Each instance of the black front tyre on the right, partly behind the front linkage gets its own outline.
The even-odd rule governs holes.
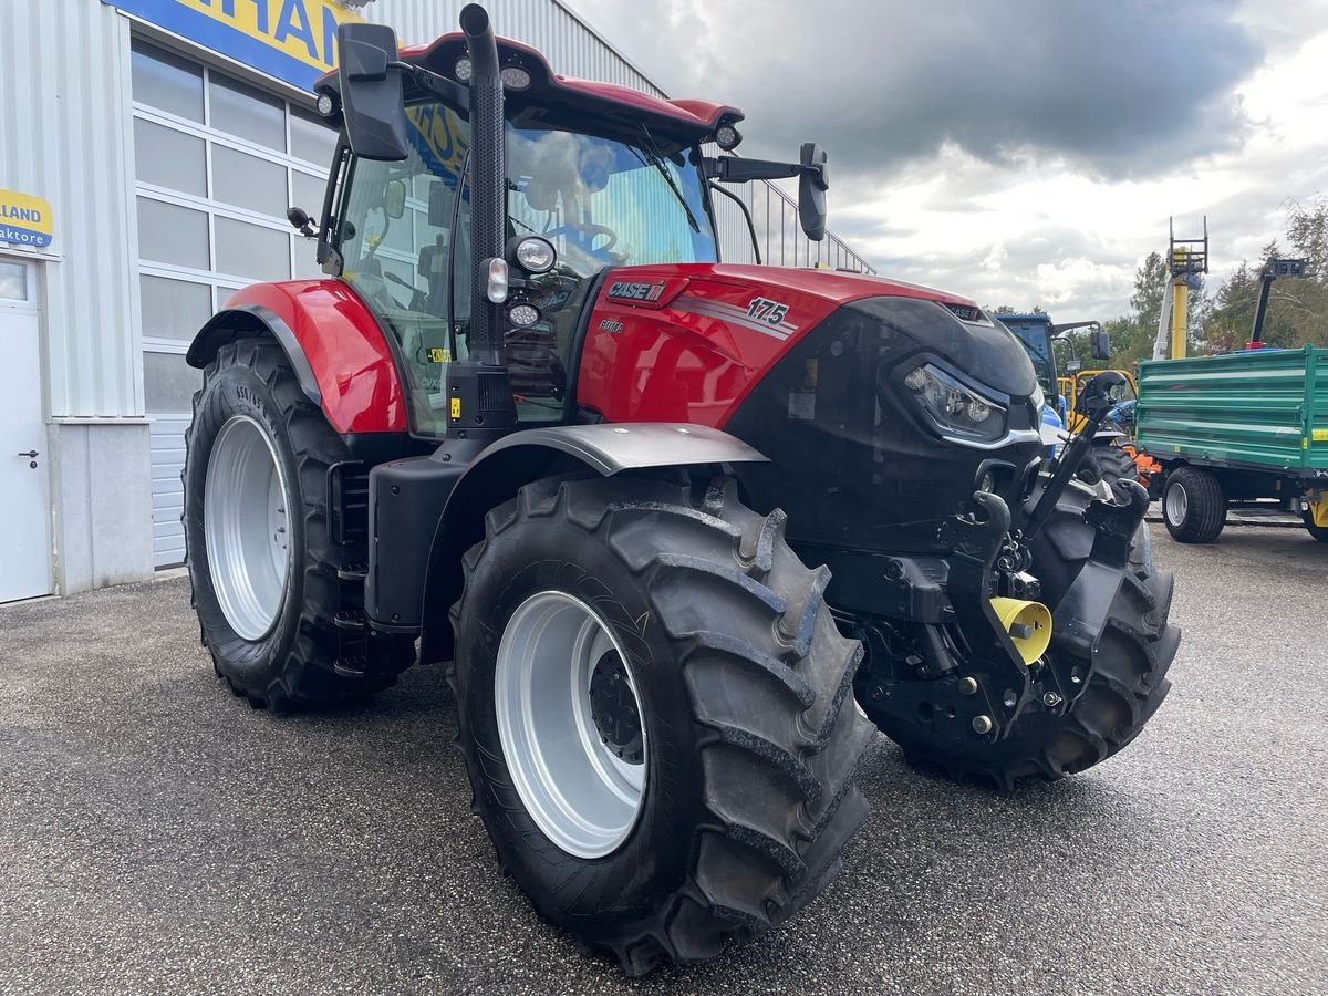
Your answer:
[[[1031,570],[1053,610],[1093,547],[1093,529],[1084,522],[1090,501],[1084,490],[1068,487],[1033,540]],[[916,724],[892,728],[887,725],[882,732],[919,768],[1005,791],[1024,781],[1054,781],[1101,764],[1143,730],[1171,688],[1166,673],[1181,643],[1179,628],[1167,622],[1173,586],[1169,571],[1153,567],[1147,525],[1141,523],[1093,652],[1084,653],[1053,632],[1048,653],[1061,655],[1070,673],[1088,679],[1068,709],[1033,703],[996,742],[940,738],[924,734]],[[870,701],[867,706],[870,714]]]

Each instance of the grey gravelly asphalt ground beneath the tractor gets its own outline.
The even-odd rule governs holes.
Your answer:
[[[880,738],[838,882],[640,981],[498,876],[438,669],[274,718],[182,580],[0,608],[0,992],[1328,992],[1328,548],[1154,551],[1186,635],[1129,750],[1001,797]]]

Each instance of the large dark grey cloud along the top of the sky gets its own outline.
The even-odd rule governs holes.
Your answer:
[[[1230,0],[576,5],[681,77],[661,80],[671,92],[744,108],[753,154],[814,138],[841,175],[890,175],[947,142],[1001,165],[1157,174],[1239,146],[1234,89],[1262,60]]]

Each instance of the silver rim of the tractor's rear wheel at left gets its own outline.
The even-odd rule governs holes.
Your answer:
[[[203,486],[203,542],[212,591],[235,635],[267,636],[290,575],[286,477],[259,422],[232,416],[216,434]]]

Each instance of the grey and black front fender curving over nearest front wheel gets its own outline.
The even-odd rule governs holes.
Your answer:
[[[470,444],[473,446],[473,444]],[[465,459],[465,440],[444,444],[429,459]],[[448,495],[429,550],[420,606],[420,660],[452,657],[448,612],[461,598],[461,558],[483,539],[485,517],[542,477],[590,471],[602,477],[663,467],[722,466],[766,457],[741,440],[700,425],[636,422],[632,425],[564,425],[505,436],[474,457]],[[374,501],[386,501],[374,487]],[[390,494],[390,490],[388,490]],[[374,514],[374,522],[392,522]],[[381,547],[374,543],[374,547]]]

